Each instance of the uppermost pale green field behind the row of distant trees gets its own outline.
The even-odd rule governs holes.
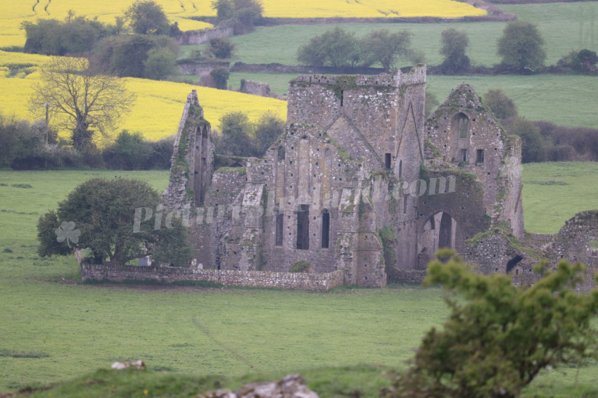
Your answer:
[[[425,4],[425,3],[424,3]],[[500,6],[515,13],[519,20],[536,23],[546,41],[547,64],[556,63],[571,50],[591,49],[598,51],[598,1],[529,4]],[[340,26],[357,37],[372,30],[388,28],[391,31],[412,32],[414,49],[426,53],[426,63],[437,65],[443,58],[440,49],[440,33],[449,27],[462,30],[469,36],[467,53],[476,65],[492,65],[500,62],[496,55],[496,41],[502,35],[506,23],[397,23],[397,24],[341,24],[341,25],[281,25],[258,27],[252,34],[236,36],[236,56],[245,63],[284,63],[297,65],[298,47],[310,38]],[[409,65],[405,60],[403,65]]]

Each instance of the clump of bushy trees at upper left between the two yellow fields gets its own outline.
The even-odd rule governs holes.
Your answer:
[[[69,11],[22,27],[26,53],[85,57],[98,74],[163,79],[176,70],[180,30],[153,0],[136,0],[114,25]]]

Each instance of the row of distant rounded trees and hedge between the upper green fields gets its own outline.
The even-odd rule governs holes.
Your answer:
[[[390,32],[384,28],[358,38],[352,32],[335,27],[300,46],[297,60],[306,65],[335,68],[381,65],[384,70],[390,71],[401,59],[412,63],[424,62],[425,54],[411,48],[411,37],[412,34],[407,30]],[[492,68],[474,67],[466,54],[469,37],[464,32],[449,28],[440,37],[443,62],[429,67],[428,71],[442,75],[539,71],[598,74],[598,55],[588,49],[571,51],[556,65],[545,67],[544,45],[545,40],[536,25],[516,20],[508,23],[502,36],[497,39],[497,55],[501,57],[501,62]]]

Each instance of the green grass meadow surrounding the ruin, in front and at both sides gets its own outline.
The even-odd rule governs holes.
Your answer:
[[[595,208],[596,172],[598,163],[526,165],[523,206],[528,230],[554,232],[578,210]],[[56,387],[54,396],[141,397],[141,387],[135,392],[110,387],[121,383],[120,375],[91,373],[113,361],[144,359],[150,371],[135,376],[131,385],[151,386],[150,396],[156,397],[167,396],[165,385],[172,385],[172,378],[191,394],[196,390],[189,385],[199,388],[220,380],[238,386],[297,371],[303,371],[322,397],[360,388],[365,389],[362,396],[376,396],[385,383],[381,371],[402,366],[424,331],[447,314],[437,288],[312,293],[82,285],[72,257],[37,256],[35,224],[93,176],[132,176],[161,191],[168,173],[0,172],[0,391],[79,377],[74,384]],[[556,397],[590,397],[597,370],[581,369],[578,387],[573,386],[575,369],[565,375],[551,372],[535,383],[529,396],[540,397],[534,394],[545,391]],[[248,373],[249,379],[241,377]],[[200,375],[215,377],[206,381]],[[85,383],[94,385],[95,395],[88,387],[80,395],[65,392]],[[575,389],[580,393],[574,394]]]

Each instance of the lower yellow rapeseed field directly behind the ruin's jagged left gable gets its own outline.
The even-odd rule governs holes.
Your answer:
[[[2,51],[0,51],[0,60],[1,56]],[[24,72],[16,77],[7,77],[7,75],[9,75],[8,68],[0,68],[1,113],[31,120],[33,116],[27,110],[27,101],[32,92],[32,84],[39,79],[39,72],[27,76],[24,76]],[[262,113],[270,110],[281,119],[286,119],[286,102],[274,98],[250,96],[184,83],[133,78],[127,78],[125,81],[128,89],[137,95],[137,100],[131,112],[121,121],[117,131],[120,129],[141,131],[147,139],[154,141],[177,132],[186,96],[192,89],[198,90],[205,118],[216,129],[220,117],[231,111],[241,110],[248,114],[250,120],[257,120]],[[61,135],[68,135],[68,131],[63,131]]]

